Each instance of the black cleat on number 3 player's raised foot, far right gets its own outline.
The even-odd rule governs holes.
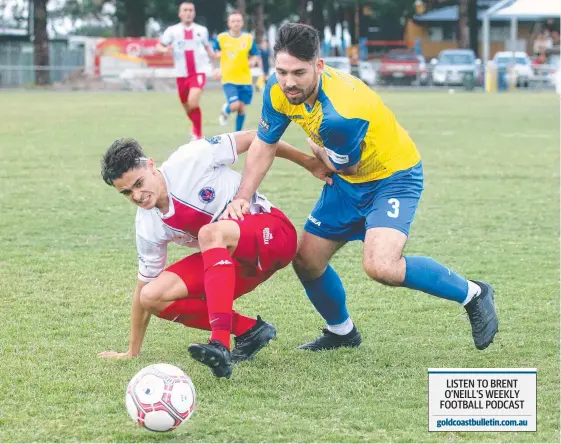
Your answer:
[[[490,284],[472,281],[481,287],[481,293],[464,307],[471,323],[473,342],[479,350],[484,350],[499,331],[499,319],[495,310],[495,290]]]

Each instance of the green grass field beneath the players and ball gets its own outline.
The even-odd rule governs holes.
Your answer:
[[[135,137],[158,164],[188,140],[174,94],[0,93],[0,441],[559,442],[559,97],[383,92],[423,155],[425,191],[408,254],[495,286],[500,332],[474,348],[460,306],[370,281],[360,243],[333,261],[364,343],[309,354],[321,319],[292,269],[236,307],[279,337],[216,380],[186,347],[206,332],[153,319],[141,357],[126,351],[136,282],[135,208],[103,183],[99,158]],[[222,132],[218,91],[205,132]],[[259,105],[249,110],[256,127]],[[285,139],[304,148],[304,133]],[[241,165],[240,165],[241,167]],[[322,184],[284,160],[261,191],[301,228]],[[188,251],[172,247],[170,260]],[[129,379],[166,362],[198,392],[177,433],[136,427]],[[429,367],[536,367],[537,433],[428,433]]]

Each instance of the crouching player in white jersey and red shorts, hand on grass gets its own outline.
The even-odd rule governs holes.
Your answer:
[[[296,253],[294,226],[257,192],[243,220],[217,220],[241,180],[228,166],[255,137],[255,131],[247,131],[194,141],[179,147],[159,169],[133,139],[120,139],[109,147],[102,159],[103,179],[139,207],[139,270],[129,349],[103,352],[101,357],[138,356],[150,315],[210,330],[208,344],[192,344],[188,351],[217,377],[229,377],[232,360],[253,358],[276,336],[268,322],[233,311],[233,301],[291,262]],[[315,157],[282,141],[277,156],[331,183],[329,171]],[[166,268],[170,242],[200,252]]]

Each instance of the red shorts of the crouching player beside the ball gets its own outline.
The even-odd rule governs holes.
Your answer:
[[[292,262],[298,235],[292,222],[277,208],[272,208],[270,213],[248,214],[244,220],[235,222],[240,226],[240,240],[232,255],[236,264],[234,298],[239,298]],[[205,295],[201,253],[187,256],[166,271],[175,273],[185,282],[188,297]]]

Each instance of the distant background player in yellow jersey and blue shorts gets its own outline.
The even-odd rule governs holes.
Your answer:
[[[236,112],[236,131],[245,121],[245,106],[253,98],[251,66],[259,64],[259,51],[251,34],[242,32],[243,15],[233,11],[228,15],[228,31],[218,35],[214,50],[220,51],[220,70],[226,103],[218,121],[225,126],[231,112]]]

